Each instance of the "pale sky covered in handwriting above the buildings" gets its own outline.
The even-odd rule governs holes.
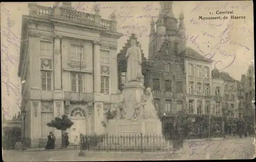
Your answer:
[[[99,2],[98,2],[99,3]],[[98,4],[97,3],[97,4]],[[2,107],[9,119],[18,113],[21,101],[20,79],[17,77],[19,43],[22,15],[28,15],[28,3],[1,3],[1,61],[2,61]],[[53,6],[52,2],[37,3]],[[81,12],[94,14],[94,2],[72,2],[72,7]],[[118,49],[135,33],[141,43],[145,57],[148,53],[150,21],[155,21],[160,12],[159,2],[100,2],[101,18],[117,16],[118,32],[124,36],[118,40]],[[233,14],[216,14],[216,11],[229,11]],[[212,68],[228,72],[240,80],[249,64],[254,63],[253,4],[251,1],[215,2],[174,2],[176,18],[183,12],[187,46],[195,49],[207,59],[215,60]],[[230,19],[230,16],[245,16],[245,19]],[[200,20],[199,17],[220,16],[216,20]],[[228,19],[223,19],[227,16]],[[190,39],[190,38],[196,38]],[[15,41],[13,41],[15,40]],[[16,42],[16,43],[15,43]],[[215,55],[214,55],[215,53]],[[230,66],[229,66],[230,65]],[[9,115],[8,115],[9,114]]]

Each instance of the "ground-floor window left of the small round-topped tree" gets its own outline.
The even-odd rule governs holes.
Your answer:
[[[50,131],[54,131],[53,127],[47,126],[47,123],[54,119],[53,113],[41,112],[41,138],[47,138]]]

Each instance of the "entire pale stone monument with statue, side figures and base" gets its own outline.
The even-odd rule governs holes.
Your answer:
[[[127,49],[126,81],[115,106],[117,116],[106,123],[106,132],[110,135],[162,135],[162,124],[157,116],[151,88],[144,93],[141,72],[141,49],[136,41]]]

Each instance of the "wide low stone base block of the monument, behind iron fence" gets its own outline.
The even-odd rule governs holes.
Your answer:
[[[158,119],[139,119],[132,121],[127,119],[113,119],[106,123],[106,132],[109,135],[138,135],[162,136],[162,123]]]

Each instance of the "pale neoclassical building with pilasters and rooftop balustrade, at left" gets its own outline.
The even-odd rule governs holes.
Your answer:
[[[57,6],[57,7],[56,7]],[[72,143],[79,133],[104,133],[104,111],[117,102],[117,33],[115,15],[102,19],[78,12],[71,3],[49,8],[29,4],[22,18],[18,76],[26,111],[28,147],[44,147],[50,131],[60,144],[61,132],[48,127],[68,115]]]

